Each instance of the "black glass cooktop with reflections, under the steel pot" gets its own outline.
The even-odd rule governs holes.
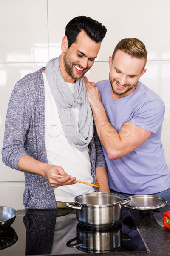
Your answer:
[[[116,226],[83,227],[75,214],[57,210],[17,214],[12,226],[0,233],[0,256],[80,255],[149,252],[129,211]]]

